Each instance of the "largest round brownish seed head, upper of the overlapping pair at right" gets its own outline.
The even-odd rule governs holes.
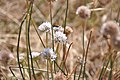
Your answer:
[[[119,32],[119,25],[115,21],[107,21],[101,27],[101,33],[104,36],[110,35],[110,37],[113,37],[118,35]]]

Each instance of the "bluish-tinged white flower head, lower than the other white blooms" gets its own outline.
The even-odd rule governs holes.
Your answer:
[[[51,61],[54,61],[57,58],[52,48],[45,48],[44,51],[41,52],[40,56],[47,59],[51,59]]]

